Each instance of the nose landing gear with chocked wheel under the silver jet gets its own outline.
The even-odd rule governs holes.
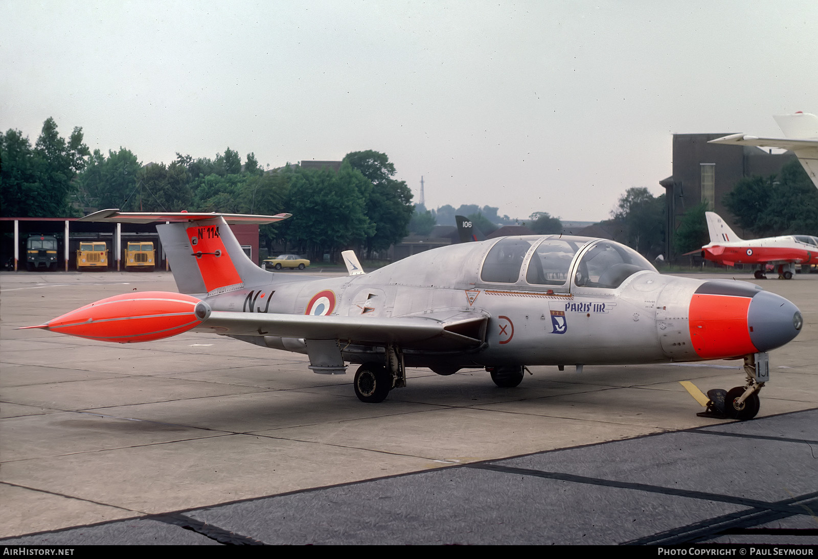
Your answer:
[[[747,374],[747,384],[744,387],[730,388],[729,391],[719,388],[708,390],[708,409],[696,415],[739,421],[756,417],[761,407],[758,392],[770,380],[770,364],[766,353],[744,356],[744,373]]]

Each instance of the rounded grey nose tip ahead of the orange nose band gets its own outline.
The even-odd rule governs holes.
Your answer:
[[[798,307],[784,297],[762,291],[756,293],[747,311],[750,339],[758,351],[770,351],[789,342],[801,331],[803,319]]]

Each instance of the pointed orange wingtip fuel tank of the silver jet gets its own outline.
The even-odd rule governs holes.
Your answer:
[[[209,305],[196,297],[146,291],[101,299],[46,324],[25,328],[43,328],[101,342],[150,342],[187,332],[209,314]]]

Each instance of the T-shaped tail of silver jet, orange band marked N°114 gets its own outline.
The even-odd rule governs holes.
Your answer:
[[[173,279],[181,293],[216,295],[244,288],[245,284],[269,281],[271,272],[256,266],[242,250],[228,223],[272,223],[290,217],[248,216],[243,214],[167,212],[131,213],[102,210],[78,221],[151,223],[156,226],[162,248],[173,269]]]

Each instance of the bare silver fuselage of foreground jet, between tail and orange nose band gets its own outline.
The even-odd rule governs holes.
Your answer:
[[[214,311],[401,317],[439,311],[490,316],[479,351],[448,363],[635,364],[699,359],[690,344],[690,297],[703,280],[640,271],[616,289],[487,284],[479,270],[488,244],[429,251],[366,275],[288,281],[206,300]],[[452,254],[456,253],[456,254]],[[267,346],[300,344],[267,340]],[[372,348],[372,351],[382,351]],[[429,352],[429,364],[439,353]],[[417,354],[414,364],[425,360]]]

